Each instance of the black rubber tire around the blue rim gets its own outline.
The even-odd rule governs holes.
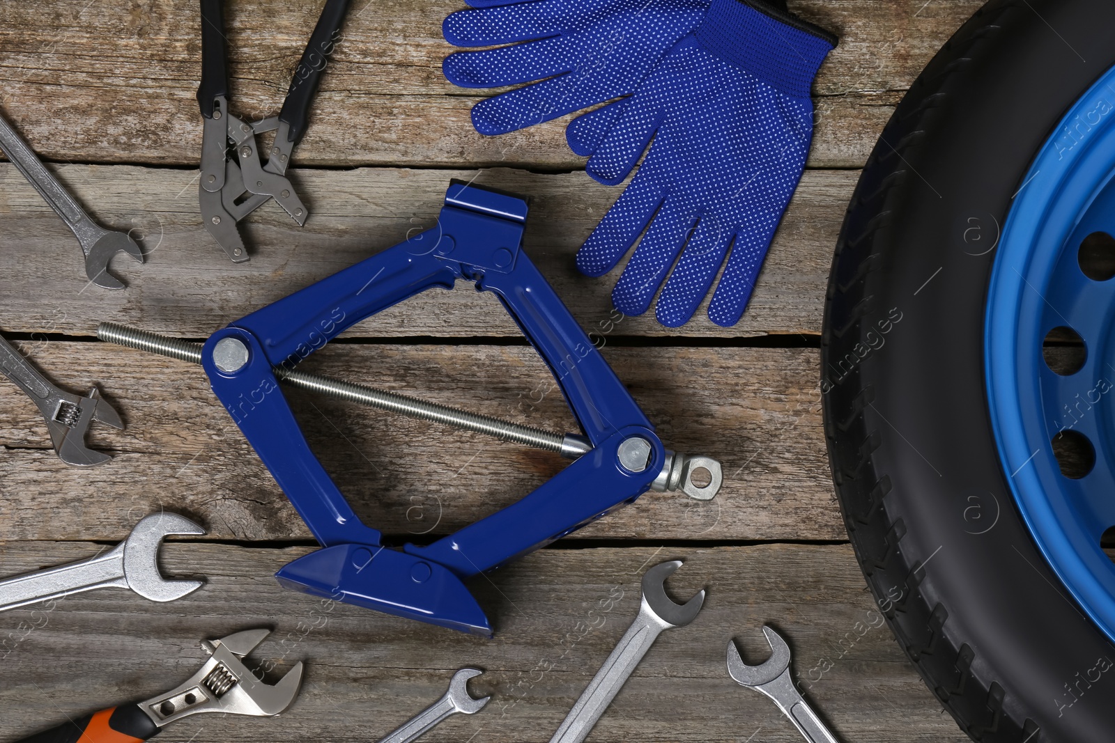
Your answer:
[[[985,6],[895,110],[833,261],[822,391],[844,521],[895,637],[976,741],[1115,740],[1115,647],[1022,525],[982,345],[987,248],[1041,144],[1115,63],[1112,29],[1111,0]]]

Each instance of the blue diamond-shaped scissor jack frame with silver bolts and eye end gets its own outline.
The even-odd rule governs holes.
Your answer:
[[[688,477],[522,252],[526,212],[522,198],[454,180],[434,228],[233,322],[202,348],[213,392],[322,545],[279,570],[284,586],[491,636],[464,578],[560,539],[652,486],[665,490],[671,480],[672,490]],[[456,534],[385,548],[310,451],[273,368],[289,369],[361,320],[427,289],[452,290],[458,278],[495,293],[518,323],[556,378],[586,440],[584,453]],[[719,488],[715,469],[710,492],[697,497]]]

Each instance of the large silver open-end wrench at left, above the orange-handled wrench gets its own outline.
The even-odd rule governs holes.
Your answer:
[[[172,534],[205,534],[176,514],[153,514],[112,550],[87,560],[0,580],[0,612],[95,588],[130,588],[153,602],[173,602],[201,588],[201,580],[167,580],[158,571],[158,547]]]

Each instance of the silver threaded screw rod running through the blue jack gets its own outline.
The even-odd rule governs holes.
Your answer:
[[[191,341],[183,341],[177,338],[159,335],[148,331],[128,327],[118,323],[104,322],[97,326],[97,338],[109,343],[126,345],[130,349],[157,353],[180,361],[187,361],[194,364],[202,363],[202,345]],[[319,374],[308,374],[297,369],[283,369],[272,366],[275,378],[287,382],[291,387],[318,394],[326,394],[350,402],[390,412],[401,413],[410,418],[434,421],[446,426],[454,426],[466,431],[475,431],[504,441],[553,451],[576,459],[584,452],[592,449],[592,446],[581,436],[572,433],[554,433],[531,426],[513,423],[492,416],[481,416],[466,410],[458,410],[449,405],[442,405],[435,402],[416,400],[415,398],[397,392],[377,390],[366,384],[357,384],[345,380],[330,379]]]

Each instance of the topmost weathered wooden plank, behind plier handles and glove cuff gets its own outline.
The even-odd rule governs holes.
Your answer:
[[[811,163],[859,167],[901,96],[980,0],[808,0],[792,3],[842,37],[816,82]],[[320,0],[231,2],[225,9],[232,100],[244,116],[278,113]],[[330,59],[300,165],[571,169],[568,117],[482,137],[468,120],[476,91],[440,74],[440,35],[463,3],[390,0],[355,8]],[[0,27],[0,104],[33,146],[58,162],[195,165],[201,69],[195,4],[153,1],[127,11],[84,3],[7,3]],[[60,133],[65,131],[65,136]]]

